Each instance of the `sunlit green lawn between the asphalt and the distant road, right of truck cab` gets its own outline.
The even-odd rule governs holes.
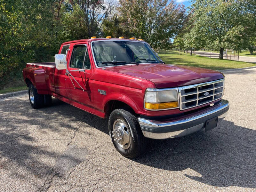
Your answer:
[[[192,55],[188,53],[179,54],[178,51],[161,51],[158,53],[159,57],[168,64],[177,64],[177,65],[188,65],[193,67],[202,67],[213,70],[221,69],[234,69],[234,68],[244,68],[255,66],[253,63],[246,63],[241,61],[232,61],[232,60],[221,60],[214,59],[209,57],[202,57],[199,55]]]

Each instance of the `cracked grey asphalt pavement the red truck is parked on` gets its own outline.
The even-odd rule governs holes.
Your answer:
[[[255,191],[256,68],[225,72],[228,116],[218,127],[150,140],[127,159],[108,119],[57,99],[31,108],[28,95],[0,101],[0,191]]]

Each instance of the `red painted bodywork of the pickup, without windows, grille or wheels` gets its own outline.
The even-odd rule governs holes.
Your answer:
[[[56,69],[55,63],[28,63],[27,68],[23,69],[24,80],[29,79],[40,94],[51,94],[53,97],[75,107],[105,118],[107,116],[106,106],[112,100],[122,101],[129,105],[135,113],[144,116],[165,116],[202,108],[210,103],[183,111],[180,111],[180,109],[148,111],[143,106],[145,90],[147,88],[198,84],[224,77],[222,73],[209,69],[169,64],[139,64],[138,66],[96,68],[90,46],[91,42],[95,40],[106,39],[66,42],[61,45],[59,51],[61,53],[63,45],[70,44],[67,65],[68,70],[74,70],[76,68],[69,67],[73,46],[87,44],[91,69],[86,69],[85,72],[70,72],[84,91],[72,78],[70,80],[65,74],[65,70]],[[76,89],[71,81],[75,84]],[[106,91],[106,95],[100,94],[98,90]]]

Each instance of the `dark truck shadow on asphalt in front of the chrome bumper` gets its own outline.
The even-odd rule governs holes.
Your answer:
[[[148,151],[134,161],[158,169],[192,169],[186,177],[217,187],[255,188],[256,131],[222,120],[218,127],[186,137],[150,140]]]

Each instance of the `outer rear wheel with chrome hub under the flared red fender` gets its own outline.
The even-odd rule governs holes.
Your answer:
[[[33,84],[28,87],[28,98],[32,108],[38,109],[44,106],[44,95],[38,94]]]

